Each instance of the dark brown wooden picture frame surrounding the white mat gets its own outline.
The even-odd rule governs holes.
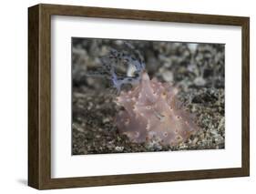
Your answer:
[[[51,16],[101,18],[241,26],[242,31],[242,148],[241,168],[51,178]],[[250,18],[198,15],[70,5],[28,8],[28,185],[59,189],[189,179],[243,177],[250,174]]]

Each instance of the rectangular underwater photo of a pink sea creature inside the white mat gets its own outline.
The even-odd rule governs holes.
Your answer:
[[[225,148],[225,45],[72,37],[72,155]]]

